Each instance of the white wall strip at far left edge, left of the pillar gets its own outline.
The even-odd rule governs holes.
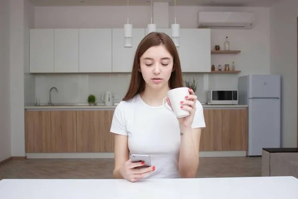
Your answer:
[[[0,161],[11,156],[9,0],[0,0]]]

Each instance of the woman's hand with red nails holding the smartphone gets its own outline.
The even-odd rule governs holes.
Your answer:
[[[130,182],[137,182],[139,179],[149,176],[155,170],[154,166],[138,168],[144,164],[144,162],[132,162],[131,159],[129,159],[120,169],[120,174],[124,179]]]

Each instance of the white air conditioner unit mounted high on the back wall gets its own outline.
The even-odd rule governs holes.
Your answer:
[[[198,12],[198,28],[251,29],[254,24],[253,12]]]

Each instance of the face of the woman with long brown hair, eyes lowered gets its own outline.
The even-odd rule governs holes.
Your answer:
[[[173,57],[163,45],[152,46],[140,58],[140,68],[147,86],[153,89],[168,87]]]

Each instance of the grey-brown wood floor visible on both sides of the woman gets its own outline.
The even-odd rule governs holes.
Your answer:
[[[0,165],[1,179],[109,179],[113,159],[27,159]],[[198,178],[258,177],[261,157],[200,158]]]

